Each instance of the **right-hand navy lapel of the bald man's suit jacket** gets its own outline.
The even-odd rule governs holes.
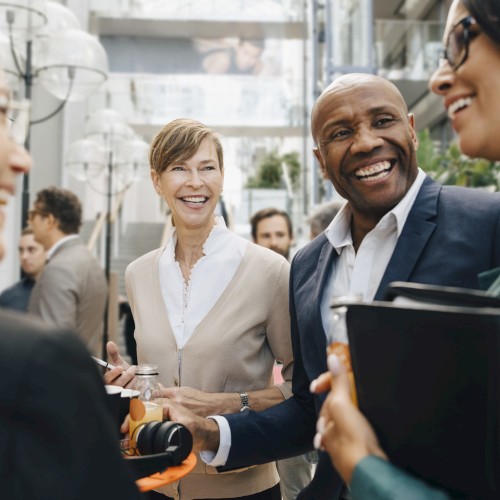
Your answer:
[[[420,254],[436,227],[441,185],[426,177],[413,204],[396,248],[382,277],[375,300],[382,300],[392,281],[408,281]]]

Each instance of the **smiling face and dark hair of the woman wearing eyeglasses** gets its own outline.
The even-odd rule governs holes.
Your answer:
[[[500,1],[455,0],[430,87],[444,97],[460,150],[500,160]]]

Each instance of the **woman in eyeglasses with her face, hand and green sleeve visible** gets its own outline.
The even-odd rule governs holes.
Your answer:
[[[443,59],[430,87],[444,97],[461,151],[498,161],[500,0],[454,0],[443,43]],[[350,485],[352,499],[451,498],[388,461],[372,426],[353,405],[347,373],[335,355],[329,356],[328,366],[330,372],[311,384],[315,393],[330,390],[318,420],[315,445],[328,451]]]

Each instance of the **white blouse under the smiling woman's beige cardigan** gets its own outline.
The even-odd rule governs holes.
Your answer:
[[[203,245],[203,257],[191,270],[189,283],[175,260],[177,234],[172,229],[159,261],[160,287],[177,347],[182,349],[194,329],[215,305],[232,280],[248,240],[227,229],[224,219],[215,225]]]

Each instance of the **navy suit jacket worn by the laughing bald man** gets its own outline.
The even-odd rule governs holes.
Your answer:
[[[324,233],[295,256],[290,275],[293,397],[263,412],[227,415],[232,445],[221,470],[303,453],[312,448],[324,397],[309,385],[327,370],[321,321],[323,290],[337,253]],[[443,187],[427,177],[408,215],[376,299],[391,281],[477,288],[479,272],[500,265],[500,194]],[[320,453],[300,498],[338,498],[342,482]]]

